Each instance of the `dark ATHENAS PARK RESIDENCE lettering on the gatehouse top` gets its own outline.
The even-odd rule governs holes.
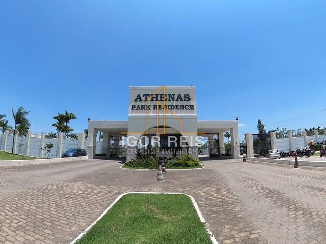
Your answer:
[[[175,94],[175,93],[142,93],[137,94],[134,98],[134,102],[148,102],[145,104],[132,104],[131,110],[161,110],[161,109],[169,109],[169,110],[194,110],[194,105],[186,104],[185,102],[190,102],[192,100],[190,94]],[[157,104],[149,104],[149,102],[159,102]],[[173,104],[166,104],[173,103]],[[176,104],[180,102],[180,104]]]

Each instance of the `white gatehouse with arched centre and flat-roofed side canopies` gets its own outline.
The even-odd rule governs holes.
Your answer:
[[[238,121],[197,120],[195,86],[129,88],[127,121],[89,121],[89,158],[95,158],[95,135],[98,131],[103,133],[102,152],[110,156],[117,155],[123,149],[127,161],[136,158],[138,154],[153,152],[153,149],[155,156],[161,158],[178,157],[185,153],[197,156],[196,142],[200,140],[197,136],[208,140],[210,157],[220,157],[225,153],[223,134],[226,131],[231,132],[231,158],[239,157]],[[176,143],[170,141],[171,136],[176,138]],[[168,150],[171,148],[175,150]]]

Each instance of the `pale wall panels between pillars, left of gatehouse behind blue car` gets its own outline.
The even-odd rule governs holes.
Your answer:
[[[0,135],[0,150],[8,151],[11,153],[12,139],[13,139],[13,135],[8,135],[7,146],[4,150],[5,135]],[[24,144],[22,147],[22,154],[25,155],[25,149],[26,149],[26,145],[27,145],[27,137],[22,137],[22,136],[17,137],[17,143],[16,143],[16,153],[17,154],[19,154],[18,145],[20,143]],[[53,144],[53,148],[51,150],[49,158],[57,158],[58,140],[44,138],[44,146],[45,146],[45,144],[48,144],[48,143]],[[102,151],[103,151],[102,143],[103,143],[103,141],[96,141],[96,154],[102,153]],[[62,140],[61,153],[64,153],[66,150],[68,150],[70,148],[77,148],[77,146],[78,146],[77,140]],[[41,138],[31,137],[28,156],[39,157],[40,149],[41,149],[40,147],[41,147]],[[87,147],[87,140],[84,141],[83,149],[86,150],[86,147]],[[44,157],[46,157],[45,154],[44,154]]]

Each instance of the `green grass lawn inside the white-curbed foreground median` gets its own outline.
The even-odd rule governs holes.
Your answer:
[[[78,244],[212,243],[191,199],[182,194],[127,194]]]

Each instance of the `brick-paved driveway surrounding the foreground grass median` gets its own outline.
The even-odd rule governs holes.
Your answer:
[[[83,160],[0,167],[0,243],[69,243],[127,191],[195,197],[219,243],[326,243],[326,169],[205,161],[204,169],[120,169]]]

